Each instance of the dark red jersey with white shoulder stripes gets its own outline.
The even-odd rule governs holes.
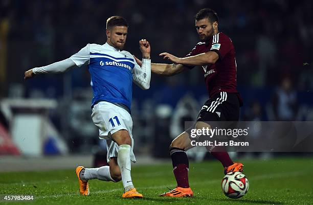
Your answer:
[[[219,32],[207,42],[198,42],[186,57],[209,51],[216,52],[219,56],[219,59],[214,64],[202,66],[209,96],[213,97],[219,92],[238,93],[236,81],[237,65],[232,40],[227,35]],[[190,69],[192,68],[190,67]],[[239,95],[238,98],[240,104],[242,104]]]

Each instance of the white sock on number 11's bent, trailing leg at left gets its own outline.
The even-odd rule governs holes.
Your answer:
[[[109,166],[103,166],[99,168],[84,168],[81,170],[79,177],[83,181],[95,178],[102,181],[114,181],[111,177]]]

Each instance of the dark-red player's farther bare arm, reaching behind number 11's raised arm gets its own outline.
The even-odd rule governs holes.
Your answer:
[[[134,57],[136,62],[141,66],[141,60],[139,60],[136,56]],[[158,75],[173,76],[186,70],[188,70],[188,67],[182,64],[151,63],[151,72]]]

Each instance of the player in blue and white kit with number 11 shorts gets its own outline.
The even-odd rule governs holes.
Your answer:
[[[149,89],[151,78],[150,44],[139,41],[142,52],[140,67],[133,56],[122,51],[127,36],[127,21],[121,16],[109,17],[106,21],[107,41],[103,45],[87,44],[68,59],[53,64],[35,67],[25,72],[25,79],[43,73],[62,73],[71,67],[88,64],[93,88],[92,119],[99,128],[99,137],[107,141],[109,166],[100,168],[76,168],[81,195],[89,195],[88,180],[123,181],[123,198],[142,198],[132,184],[130,161],[136,162],[133,154],[132,120],[130,103],[132,82],[142,89]]]

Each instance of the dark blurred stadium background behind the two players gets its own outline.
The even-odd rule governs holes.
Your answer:
[[[313,121],[312,1],[2,0],[2,171],[30,165],[92,166],[96,153],[103,156],[104,142],[90,117],[87,67],[28,81],[23,79],[25,71],[68,58],[87,43],[103,44],[105,22],[112,15],[124,16],[130,24],[125,48],[130,53],[140,57],[138,41],[146,38],[152,62],[165,62],[158,56],[161,52],[184,56],[198,42],[194,15],[205,7],[218,13],[219,30],[235,45],[238,89],[244,100],[240,119]],[[169,78],[152,75],[147,91],[133,86],[139,163],[168,158],[172,138],[184,130],[184,121],[195,120],[207,98],[200,69]]]

